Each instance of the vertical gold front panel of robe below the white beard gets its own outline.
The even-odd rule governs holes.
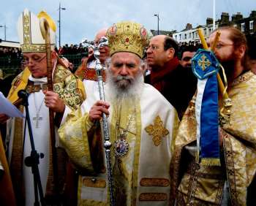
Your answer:
[[[118,159],[113,155],[113,175],[116,204],[132,205],[133,194],[136,194],[138,181],[138,159],[140,151],[140,101],[139,99],[129,99],[127,102],[116,103],[110,123],[110,137],[112,142],[118,140],[120,132],[125,132],[125,139],[129,144],[126,156]],[[118,105],[117,105],[118,104]],[[118,126],[119,124],[119,126]],[[131,166],[131,163],[132,166]],[[127,194],[130,197],[127,197]]]

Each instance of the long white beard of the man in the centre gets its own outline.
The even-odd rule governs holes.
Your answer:
[[[106,81],[106,99],[110,102],[123,102],[127,100],[134,101],[140,98],[140,94],[143,91],[143,74],[139,72],[137,76],[132,80],[128,77],[128,80],[116,81],[117,78],[123,78],[121,75],[115,78],[113,77],[110,69],[106,69],[107,81]],[[126,78],[126,77],[124,77]]]

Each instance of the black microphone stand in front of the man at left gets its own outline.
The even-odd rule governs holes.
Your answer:
[[[41,183],[39,169],[38,169],[39,158],[42,159],[44,157],[44,154],[37,153],[37,150],[34,148],[34,138],[32,134],[31,121],[29,117],[29,102],[28,102],[29,94],[26,93],[26,91],[19,91],[18,96],[23,99],[23,105],[26,110],[26,123],[28,124],[29,138],[31,142],[31,153],[30,153],[30,156],[27,156],[25,158],[25,164],[27,167],[31,167],[32,173],[34,176],[34,206],[39,206],[38,191],[39,191],[41,205],[45,206],[46,204],[45,204],[44,194],[42,191],[42,183]]]

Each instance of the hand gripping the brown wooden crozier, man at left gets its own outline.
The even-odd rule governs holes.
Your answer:
[[[44,94],[46,107],[49,107],[54,112],[64,112],[65,104],[64,101],[59,98],[59,94],[56,94],[53,91],[44,91]]]

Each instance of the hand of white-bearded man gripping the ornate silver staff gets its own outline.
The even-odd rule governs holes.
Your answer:
[[[108,108],[110,104],[108,102],[104,102],[102,100],[97,101],[89,111],[89,119],[91,122],[99,121],[102,118],[102,113],[104,112],[106,115],[109,115]]]

